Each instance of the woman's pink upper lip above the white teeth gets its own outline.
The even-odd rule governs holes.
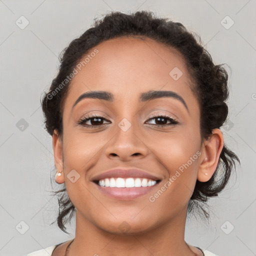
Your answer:
[[[93,181],[98,181],[100,179],[104,178],[111,178],[111,177],[121,177],[121,178],[128,178],[128,177],[141,177],[141,178],[147,178],[152,180],[160,180],[159,177],[152,175],[146,171],[135,169],[135,168],[129,168],[129,169],[122,169],[122,168],[116,168],[116,169],[110,169],[103,173],[100,173],[94,177],[92,177]]]

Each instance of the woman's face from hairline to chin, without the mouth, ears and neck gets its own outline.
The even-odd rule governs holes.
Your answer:
[[[201,160],[199,105],[174,49],[132,37],[95,48],[63,104],[63,136],[54,152],[63,164],[58,181],[65,182],[79,221],[116,233],[126,221],[131,233],[148,231],[186,213]],[[157,90],[170,92],[140,99]],[[106,91],[112,98],[77,100],[88,91]],[[137,168],[160,181],[137,197],[116,198],[93,181],[114,168]]]

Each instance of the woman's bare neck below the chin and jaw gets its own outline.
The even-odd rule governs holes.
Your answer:
[[[133,233],[110,233],[85,219],[76,211],[75,238],[68,255],[187,255],[196,253],[184,241],[186,207],[175,218],[156,227]]]

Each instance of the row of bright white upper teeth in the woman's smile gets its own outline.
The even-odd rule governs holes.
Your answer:
[[[145,187],[152,186],[156,183],[156,180],[147,178],[104,178],[98,181],[98,185],[106,187]]]

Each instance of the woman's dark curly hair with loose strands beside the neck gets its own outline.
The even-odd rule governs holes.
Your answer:
[[[67,76],[91,48],[102,41],[121,36],[151,38],[181,53],[200,106],[201,139],[208,139],[214,128],[220,128],[228,114],[225,103],[228,97],[228,75],[222,64],[215,65],[212,62],[210,54],[202,46],[200,36],[188,31],[179,22],[156,17],[151,11],[136,11],[130,14],[112,11],[101,19],[95,19],[93,26],[78,38],[73,39],[60,54],[57,76],[52,80],[49,90],[43,92],[41,99],[45,128],[50,135],[53,134],[54,129],[60,136],[62,135],[62,106],[70,83]],[[240,163],[237,155],[224,144],[212,177],[207,182],[196,181],[188,203],[188,213],[191,209],[200,208],[205,217],[208,217],[203,204],[209,197],[217,196],[225,187],[235,167],[235,160]],[[54,195],[56,194],[59,195],[57,224],[62,231],[66,232],[67,215],[69,214],[70,220],[76,209],[66,193],[64,183],[62,189],[54,192]]]

